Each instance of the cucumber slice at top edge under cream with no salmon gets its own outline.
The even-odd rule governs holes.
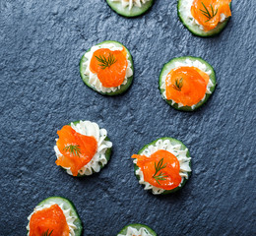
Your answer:
[[[131,10],[129,10],[129,7],[124,8],[121,2],[112,2],[111,0],[106,0],[106,2],[108,3],[109,7],[117,14],[123,17],[132,18],[146,13],[152,7],[155,0],[142,3],[142,7],[133,6]]]

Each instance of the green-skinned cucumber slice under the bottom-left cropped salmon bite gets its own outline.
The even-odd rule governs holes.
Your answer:
[[[70,214],[73,217],[76,217],[76,220],[74,221],[74,224],[77,226],[77,228],[74,230],[76,236],[82,235],[83,232],[83,223],[78,215],[77,209],[74,206],[74,204],[62,197],[50,197],[42,202],[40,202],[37,206],[44,206],[44,205],[50,205],[51,203],[55,203],[58,206],[63,204],[64,209],[70,209]]]

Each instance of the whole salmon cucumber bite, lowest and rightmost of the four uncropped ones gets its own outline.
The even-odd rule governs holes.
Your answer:
[[[161,138],[146,145],[134,158],[139,183],[154,195],[169,194],[181,189],[191,174],[188,148],[172,138]]]

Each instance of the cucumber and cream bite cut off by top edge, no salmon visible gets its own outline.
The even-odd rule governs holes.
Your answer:
[[[138,17],[146,13],[154,0],[106,0],[112,10],[123,17]]]

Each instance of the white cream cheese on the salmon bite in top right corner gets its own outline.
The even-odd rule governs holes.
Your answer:
[[[198,26],[199,29],[204,30],[204,27],[198,23],[198,21],[192,16],[191,14],[191,7],[194,0],[182,0],[181,5],[179,8],[179,14],[182,14],[184,17],[185,22],[190,26]],[[221,20],[220,23],[224,22],[226,19],[225,15],[221,14]]]

